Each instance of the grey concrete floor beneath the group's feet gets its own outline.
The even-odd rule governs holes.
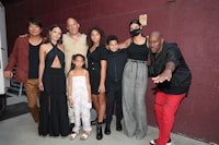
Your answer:
[[[8,105],[26,101],[25,96],[8,98]],[[115,120],[115,119],[114,119]],[[127,137],[123,132],[115,130],[115,121],[112,123],[112,134],[104,135],[103,140],[95,140],[95,126],[87,141],[74,141],[68,137],[42,137],[37,134],[37,124],[30,113],[0,121],[0,145],[149,145],[149,141],[157,137],[158,129],[149,126],[148,135],[143,140]],[[172,134],[172,145],[208,145],[193,138]]]

